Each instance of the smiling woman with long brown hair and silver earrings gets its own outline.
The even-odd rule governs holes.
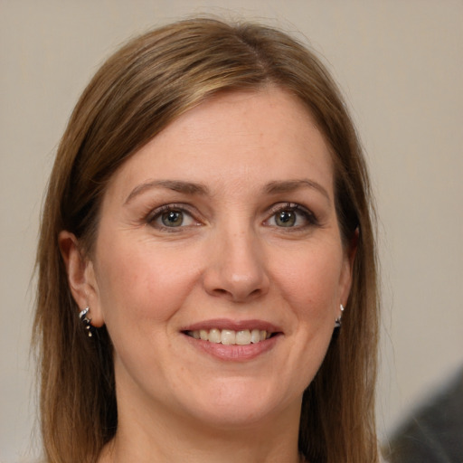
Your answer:
[[[203,19],[128,43],[74,109],[44,205],[48,461],[377,461],[370,212],[302,45]]]

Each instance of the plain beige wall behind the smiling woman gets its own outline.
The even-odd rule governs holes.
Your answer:
[[[381,219],[382,437],[463,364],[462,1],[0,0],[1,462],[34,454],[33,254],[66,120],[119,43],[200,13],[300,31],[352,107]]]

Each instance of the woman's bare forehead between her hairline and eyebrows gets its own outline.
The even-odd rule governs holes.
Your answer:
[[[260,183],[316,177],[333,190],[329,146],[307,108],[277,88],[222,94],[175,119],[131,156],[109,182],[128,194],[150,179]]]

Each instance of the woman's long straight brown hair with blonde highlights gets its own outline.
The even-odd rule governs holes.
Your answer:
[[[372,201],[354,126],[313,52],[266,26],[212,19],[167,25],[116,52],[84,90],[61,139],[43,208],[33,335],[48,461],[93,462],[118,427],[110,338],[102,327],[89,339],[80,326],[59,232],[73,232],[90,255],[106,184],[129,156],[218,92],[269,84],[294,94],[316,118],[331,146],[343,239],[358,235],[342,331],[304,393],[299,451],[311,463],[377,461]]]

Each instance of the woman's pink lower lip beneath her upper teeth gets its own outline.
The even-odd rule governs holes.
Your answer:
[[[269,352],[277,344],[280,335],[274,335],[265,341],[250,345],[222,345],[220,343],[216,344],[203,341],[202,339],[195,339],[189,335],[184,336],[191,345],[194,345],[195,348],[200,349],[205,354],[212,355],[220,360],[243,362],[255,359],[261,354]]]

